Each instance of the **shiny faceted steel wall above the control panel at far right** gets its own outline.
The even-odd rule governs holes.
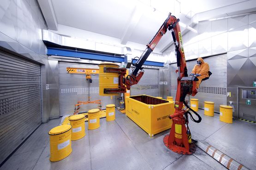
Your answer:
[[[256,14],[228,20],[227,86],[230,95],[227,104],[232,102],[235,109],[233,115],[239,115],[239,118],[243,117],[238,114],[238,87],[252,87],[253,81],[256,81],[255,32]]]

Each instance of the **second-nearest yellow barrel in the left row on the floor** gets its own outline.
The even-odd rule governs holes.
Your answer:
[[[85,136],[85,115],[84,114],[77,114],[73,115],[69,118],[70,125],[72,126],[71,129],[71,140],[75,141],[78,139],[83,138]]]

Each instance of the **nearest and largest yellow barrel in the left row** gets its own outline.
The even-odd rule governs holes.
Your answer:
[[[51,129],[50,161],[59,161],[66,158],[71,152],[71,125],[60,125]]]

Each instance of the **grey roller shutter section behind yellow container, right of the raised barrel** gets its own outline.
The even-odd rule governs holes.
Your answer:
[[[137,85],[131,86],[131,96],[159,96],[159,69],[144,68],[144,74]]]

